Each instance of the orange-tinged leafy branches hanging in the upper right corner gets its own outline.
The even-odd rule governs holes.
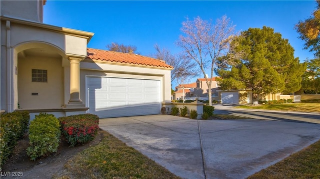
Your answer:
[[[299,38],[305,41],[304,49],[314,52],[314,56],[320,58],[320,0],[316,0],[317,6],[312,15],[304,21],[299,20],[295,25]]]

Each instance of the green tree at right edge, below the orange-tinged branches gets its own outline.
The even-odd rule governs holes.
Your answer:
[[[320,92],[320,59],[306,61],[307,70],[302,75],[302,90],[308,94]]]

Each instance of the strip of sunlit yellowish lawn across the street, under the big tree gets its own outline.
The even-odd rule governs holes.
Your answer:
[[[320,103],[287,103],[287,104],[264,104],[264,105],[241,105],[236,108],[244,109],[264,109],[278,111],[300,111],[300,112],[320,112]]]

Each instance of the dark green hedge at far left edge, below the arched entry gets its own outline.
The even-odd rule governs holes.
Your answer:
[[[28,128],[29,112],[12,112],[0,117],[0,165],[11,156],[16,142]]]

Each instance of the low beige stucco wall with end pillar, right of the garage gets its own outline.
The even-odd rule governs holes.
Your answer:
[[[199,102],[199,101],[194,101],[192,103],[162,103],[162,107],[168,107],[169,110],[167,112],[167,114],[171,113],[171,108],[173,105],[176,105],[176,107],[178,108],[183,108],[183,106],[186,106],[187,108],[187,114],[186,116],[190,116],[190,111],[192,110],[196,110],[196,112],[198,113],[198,116],[196,119],[201,119],[201,115],[203,113],[203,105],[205,103]],[[180,113],[179,113],[180,114]]]

